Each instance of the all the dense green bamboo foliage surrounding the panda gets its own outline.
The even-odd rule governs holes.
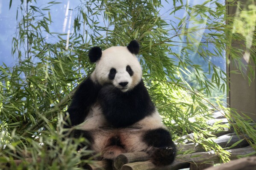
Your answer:
[[[31,2],[36,0],[27,1]],[[207,123],[212,113],[220,109],[236,122],[230,124],[237,133],[242,129],[250,136],[251,143],[256,142],[251,121],[223,106],[228,78],[226,71],[212,62],[229,56],[244,76],[255,78],[253,65],[245,66],[239,57],[245,51],[250,52],[256,63],[256,49],[250,48],[256,46],[256,32],[252,29],[255,20],[250,17],[255,16],[255,6],[242,10],[240,15],[227,16],[227,6],[216,0],[200,5],[182,0],[172,3],[165,14],[177,18],[178,23],[160,15],[159,9],[163,8],[160,0],[81,1],[74,9],[74,34],[58,34],[50,30],[54,24],[50,7],[58,5],[57,2],[26,6],[21,0],[22,19],[12,41],[12,54],[18,62],[10,68],[0,66],[0,160],[24,160],[21,155],[25,150],[32,153],[32,163],[23,161],[19,167],[11,164],[10,169],[77,167],[89,151],[76,152],[76,146],[84,138],[62,141],[65,135],[61,115],[76,86],[94,68],[88,62],[88,49],[126,46],[133,39],[141,44],[143,80],[178,144],[184,142],[181,136],[194,133],[194,142],[206,150],[215,150],[222,161],[228,161],[229,155],[223,148],[206,140],[225,127],[220,122]],[[180,10],[186,13],[184,17],[175,16]],[[243,28],[239,26],[248,29],[241,32]],[[240,40],[246,40],[246,45],[231,46]],[[244,72],[246,68],[249,75]],[[53,141],[57,141],[56,145]],[[38,157],[44,161],[36,163]],[[67,166],[62,167],[63,162]]]

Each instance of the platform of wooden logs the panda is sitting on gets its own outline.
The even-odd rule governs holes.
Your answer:
[[[231,159],[237,159],[237,156],[244,156],[247,154],[256,155],[253,147],[247,146],[243,148],[228,150],[231,154]],[[254,157],[256,160],[256,157]],[[149,161],[147,153],[124,153],[118,156],[114,161],[96,161],[94,164],[89,164],[90,170],[179,170],[189,168],[190,170],[203,170],[207,167],[212,167],[213,164],[219,163],[219,157],[215,152],[197,152],[187,155],[177,155],[173,164],[166,167],[156,167]],[[256,163],[256,161],[254,162]],[[256,165],[255,165],[256,166]],[[217,169],[210,169],[217,170]],[[228,169],[226,169],[228,170]],[[234,170],[234,169],[230,169]],[[244,170],[244,169],[243,169]]]

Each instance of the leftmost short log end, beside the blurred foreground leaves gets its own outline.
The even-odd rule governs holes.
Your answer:
[[[90,164],[87,164],[85,167],[88,170],[112,170],[112,161],[94,161]]]

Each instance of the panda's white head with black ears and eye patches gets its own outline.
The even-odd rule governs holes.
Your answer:
[[[126,92],[133,89],[142,77],[142,70],[137,57],[139,44],[132,40],[128,46],[112,46],[104,51],[93,47],[89,59],[96,62],[95,76],[99,84],[112,84]]]

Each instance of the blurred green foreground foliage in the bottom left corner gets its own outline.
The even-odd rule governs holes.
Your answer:
[[[59,115],[56,127],[44,124],[44,130],[39,130],[38,133],[30,131],[29,137],[17,135],[18,129],[13,130],[12,134],[1,133],[0,144],[5,144],[6,148],[2,148],[0,152],[0,168],[70,170],[79,168],[86,163],[92,163],[92,161],[84,159],[85,156],[90,157],[89,155],[92,153],[90,150],[86,150],[85,147],[77,152],[75,149],[82,143],[88,144],[88,141],[85,138],[67,138],[68,133],[65,133],[62,127],[63,118],[62,115]],[[2,127],[2,130],[5,128],[9,127]],[[65,140],[63,140],[64,138]],[[14,160],[17,159],[20,160],[18,165],[14,163]]]

